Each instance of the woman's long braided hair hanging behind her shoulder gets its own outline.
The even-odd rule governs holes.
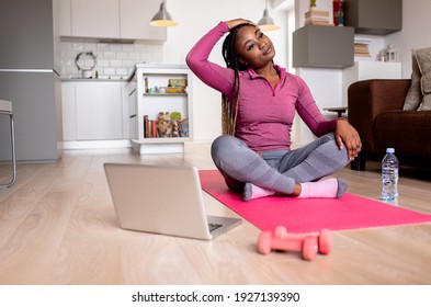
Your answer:
[[[224,134],[235,135],[238,115],[239,101],[239,71],[248,69],[248,66],[238,60],[239,55],[235,50],[238,30],[243,26],[253,26],[249,23],[241,23],[230,29],[229,34],[223,42],[223,58],[226,67],[234,70],[234,100],[229,101],[226,95],[222,95],[222,129]]]

